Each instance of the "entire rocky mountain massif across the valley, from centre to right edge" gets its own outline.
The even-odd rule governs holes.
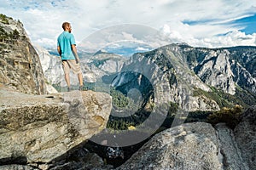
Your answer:
[[[148,90],[151,97],[160,103],[176,103],[185,111],[248,106],[256,102],[255,65],[249,64],[255,63],[255,59],[255,47],[193,48],[171,44],[134,54],[112,85],[122,92],[131,86],[147,91],[148,84],[139,83],[143,75],[154,87],[153,91]],[[138,76],[134,77],[131,71]]]

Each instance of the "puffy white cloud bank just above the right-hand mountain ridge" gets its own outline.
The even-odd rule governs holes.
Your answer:
[[[219,48],[256,45],[256,33],[246,35],[244,32],[229,26],[178,26],[178,29],[171,29],[165,25],[161,31],[172,42],[187,42],[189,45],[197,47]],[[219,35],[224,32],[229,33]]]

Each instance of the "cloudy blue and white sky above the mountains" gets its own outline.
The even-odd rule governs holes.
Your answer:
[[[0,4],[0,13],[20,20],[32,42],[44,48],[56,47],[64,21],[72,24],[78,49],[87,40],[87,49],[97,44],[102,48],[103,43],[105,48],[118,47],[115,42],[121,40],[150,42],[154,48],[171,42],[207,48],[256,46],[255,0],[0,0]],[[147,33],[140,36],[144,28]],[[150,36],[152,32],[164,38]]]

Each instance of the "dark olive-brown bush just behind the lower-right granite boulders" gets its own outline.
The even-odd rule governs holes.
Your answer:
[[[241,112],[241,105],[235,105],[232,108],[224,107],[220,111],[213,112],[209,115],[207,117],[207,122],[210,122],[213,126],[218,122],[225,122],[227,126],[234,129],[240,122]]]

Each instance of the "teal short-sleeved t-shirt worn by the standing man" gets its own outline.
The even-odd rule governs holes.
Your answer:
[[[61,47],[61,59],[75,59],[71,45],[75,45],[75,39],[72,33],[63,31],[58,37],[58,46]]]

